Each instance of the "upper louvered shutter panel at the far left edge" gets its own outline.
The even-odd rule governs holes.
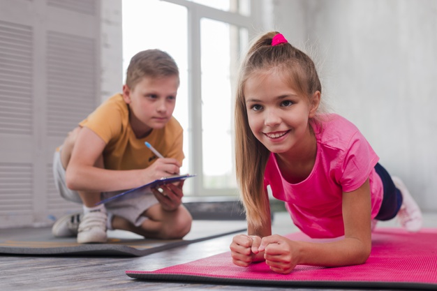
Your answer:
[[[0,133],[32,133],[31,27],[0,21]]]

